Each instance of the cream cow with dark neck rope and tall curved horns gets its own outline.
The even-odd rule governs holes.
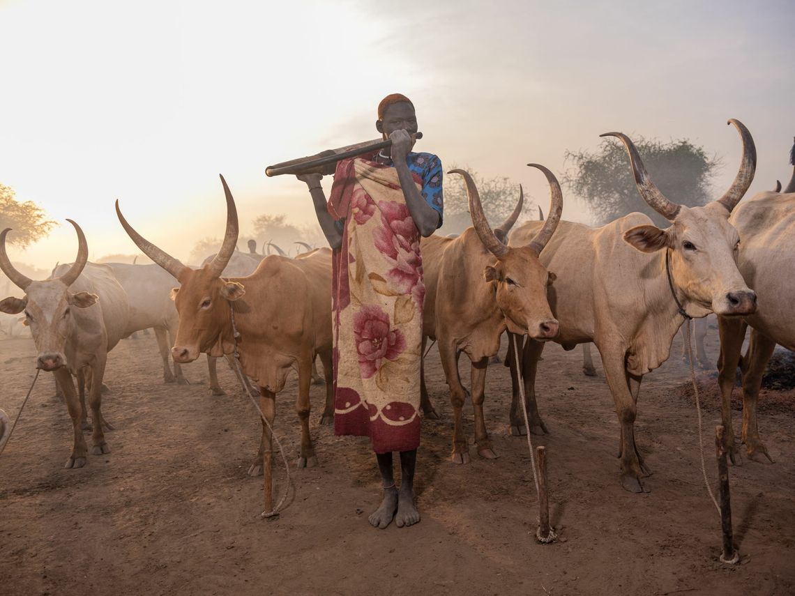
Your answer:
[[[729,122],[743,139],[743,160],[731,188],[704,207],[671,203],[654,186],[632,141],[609,133],[626,146],[638,192],[672,225],[661,230],[639,213],[595,229],[561,222],[541,253],[541,263],[558,276],[549,291],[549,304],[560,322],[556,343],[571,350],[593,342],[602,356],[621,425],[621,483],[633,492],[644,490],[641,478],[650,474],[634,439],[638,392],[643,375],[669,357],[684,322],[680,311],[702,317],[756,310],[756,295],[735,263],[739,235],[728,221],[753,180],[756,150],[746,127]],[[534,222],[520,226],[510,244],[524,246],[538,227]],[[531,414],[537,412],[535,376],[541,350],[543,344],[531,340],[522,359],[529,401],[525,407]]]

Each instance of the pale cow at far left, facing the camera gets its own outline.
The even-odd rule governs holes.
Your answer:
[[[89,385],[89,404],[93,423],[91,453],[110,453],[103,425],[102,380],[107,353],[124,335],[127,324],[127,296],[111,269],[97,265],[83,270],[88,259],[88,246],[83,230],[75,226],[80,248],[77,260],[64,275],[45,281],[33,281],[14,269],[6,254],[6,234],[0,234],[0,268],[23,292],[24,298],[0,301],[0,311],[10,314],[25,312],[26,322],[36,343],[38,369],[51,371],[64,393],[69,416],[72,417],[74,442],[72,455],[65,467],[86,465],[87,446],[83,428],[87,426],[85,395],[78,397],[72,374],[85,376]]]

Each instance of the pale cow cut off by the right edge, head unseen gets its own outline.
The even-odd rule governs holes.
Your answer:
[[[795,157],[795,147],[793,147]],[[731,460],[739,446],[731,426],[731,391],[740,363],[743,373],[743,431],[748,457],[757,462],[773,461],[759,438],[756,407],[762,373],[776,344],[795,350],[795,300],[792,273],[795,255],[795,168],[783,194],[760,192],[740,203],[729,219],[740,234],[737,265],[759,297],[759,308],[743,319],[718,318],[720,393],[722,420]],[[743,357],[740,350],[747,327],[750,342]],[[764,457],[763,457],[764,456]]]

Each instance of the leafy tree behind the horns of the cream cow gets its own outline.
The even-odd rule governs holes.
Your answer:
[[[711,181],[720,161],[708,157],[703,147],[687,139],[663,143],[640,138],[634,144],[654,184],[673,203],[696,207],[711,200]],[[621,142],[606,138],[595,153],[567,151],[566,161],[572,161],[574,168],[564,175],[563,183],[584,199],[595,225],[640,211],[657,225],[669,226],[638,195],[630,158]]]

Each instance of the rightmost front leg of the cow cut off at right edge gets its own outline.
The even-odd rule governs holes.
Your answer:
[[[748,459],[760,463],[773,463],[765,443],[759,438],[756,405],[762,387],[762,373],[773,355],[776,343],[755,329],[750,331],[748,351],[743,357],[743,443],[748,449]],[[762,458],[765,456],[767,461]]]

